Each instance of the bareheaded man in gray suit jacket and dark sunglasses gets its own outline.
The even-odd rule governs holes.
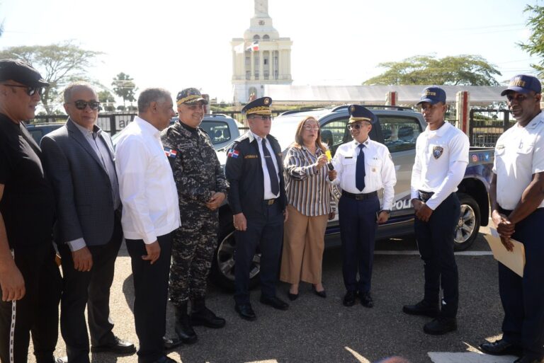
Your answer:
[[[86,83],[64,90],[66,125],[41,142],[44,167],[57,205],[54,239],[62,258],[60,329],[70,363],[89,363],[91,352],[133,354],[132,343],[113,335],[110,287],[123,230],[111,138],[95,125],[96,92]]]

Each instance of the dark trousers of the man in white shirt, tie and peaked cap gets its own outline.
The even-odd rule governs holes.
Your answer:
[[[374,263],[376,212],[380,200],[373,197],[355,200],[343,196],[338,203],[340,238],[342,241],[342,276],[346,290],[370,292]],[[357,272],[359,280],[357,281]]]

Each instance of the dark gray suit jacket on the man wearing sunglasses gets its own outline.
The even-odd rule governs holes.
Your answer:
[[[100,137],[113,161],[111,138],[106,132],[101,132]],[[87,246],[108,243],[115,218],[111,183],[94,149],[70,119],[45,135],[40,146],[57,203],[55,241],[84,238]]]

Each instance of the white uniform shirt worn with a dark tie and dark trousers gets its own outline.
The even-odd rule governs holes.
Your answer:
[[[393,198],[395,197],[395,165],[387,146],[370,140],[370,137],[363,142],[365,154],[365,188],[358,190],[355,185],[355,172],[357,158],[359,157],[359,143],[356,140],[340,145],[336,149],[332,164],[336,170],[336,179],[332,184],[339,185],[341,190],[353,194],[376,192],[383,188],[382,209],[391,210]]]

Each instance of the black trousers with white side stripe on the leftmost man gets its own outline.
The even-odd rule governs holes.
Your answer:
[[[45,243],[44,243],[45,244]],[[15,253],[15,263],[25,280],[26,294],[16,301],[13,362],[26,363],[30,333],[37,363],[54,363],[59,335],[59,300],[62,281],[51,242],[42,250]],[[1,294],[1,289],[0,289]],[[9,361],[12,302],[0,301],[0,362]]]

